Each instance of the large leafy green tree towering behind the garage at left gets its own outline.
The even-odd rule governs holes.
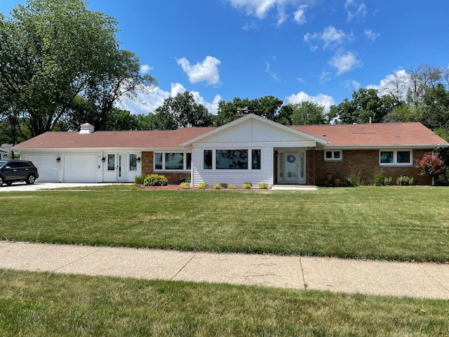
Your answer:
[[[0,15],[0,98],[15,107],[31,136],[51,131],[82,95],[98,105],[102,128],[112,105],[140,85],[138,58],[120,51],[116,20],[88,11],[83,0],[27,0]]]

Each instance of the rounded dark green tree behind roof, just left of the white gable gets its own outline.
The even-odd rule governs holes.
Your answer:
[[[166,98],[156,110],[157,127],[160,130],[173,130],[178,127],[212,126],[213,115],[206,107],[197,104],[194,95],[185,91],[175,97]]]

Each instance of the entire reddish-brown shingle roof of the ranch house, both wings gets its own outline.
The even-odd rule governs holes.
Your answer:
[[[220,128],[194,127],[178,128],[166,131],[95,131],[46,132],[14,147],[15,150],[32,149],[75,149],[75,148],[140,148],[167,149],[181,147],[221,130],[229,128],[245,117],[237,119]],[[257,118],[262,117],[248,117]],[[276,124],[269,121],[270,124]],[[276,124],[280,126],[281,124]],[[420,123],[389,124],[325,124],[312,126],[280,126],[293,128],[298,136],[309,136],[317,143],[330,148],[374,148],[374,147],[410,147],[433,148],[449,147],[449,143]]]

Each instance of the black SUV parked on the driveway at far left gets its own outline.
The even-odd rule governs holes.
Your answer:
[[[37,168],[31,161],[0,161],[0,186],[3,183],[11,185],[15,181],[25,181],[27,184],[34,184],[37,178],[39,178]]]

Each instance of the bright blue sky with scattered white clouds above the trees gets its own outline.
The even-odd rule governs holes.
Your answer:
[[[8,14],[18,3],[1,0]],[[449,1],[417,0],[92,0],[119,22],[121,48],[156,77],[153,112],[191,91],[214,114],[220,100],[274,95],[284,103],[333,104],[358,88],[427,64],[448,67]]]

